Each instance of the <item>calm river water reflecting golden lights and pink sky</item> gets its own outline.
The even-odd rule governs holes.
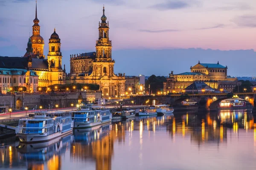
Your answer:
[[[254,170],[251,111],[176,112],[75,130],[41,144],[7,140],[0,168],[13,170]]]

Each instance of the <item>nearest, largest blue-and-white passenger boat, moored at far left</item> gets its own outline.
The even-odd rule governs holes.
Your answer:
[[[70,113],[63,111],[35,112],[34,116],[20,119],[16,136],[20,142],[47,142],[73,133]]]

